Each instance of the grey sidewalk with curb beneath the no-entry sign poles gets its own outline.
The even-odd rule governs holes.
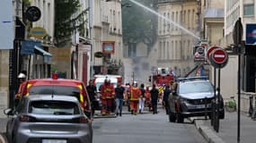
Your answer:
[[[201,118],[203,119],[203,118]],[[220,120],[217,133],[210,124],[210,120],[194,120],[200,133],[211,143],[236,143],[237,142],[237,113],[225,112],[225,119]],[[256,142],[256,121],[251,117],[241,114],[240,142]]]

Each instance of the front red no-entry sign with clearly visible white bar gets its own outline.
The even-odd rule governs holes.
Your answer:
[[[227,54],[224,49],[217,48],[212,52],[212,59],[215,63],[223,64],[227,60]]]

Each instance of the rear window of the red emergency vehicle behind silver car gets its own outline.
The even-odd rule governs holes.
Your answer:
[[[70,86],[33,86],[30,89],[30,95],[66,95],[79,97],[79,88]]]

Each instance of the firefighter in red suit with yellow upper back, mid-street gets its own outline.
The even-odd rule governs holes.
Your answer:
[[[130,110],[131,114],[137,115],[138,98],[141,96],[140,89],[137,88],[137,82],[134,82],[130,88]]]

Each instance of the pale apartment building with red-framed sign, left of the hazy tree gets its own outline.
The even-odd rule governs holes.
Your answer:
[[[95,74],[119,73],[123,58],[121,1],[93,0],[90,7],[93,53],[105,55],[102,58],[93,56],[93,71]]]

